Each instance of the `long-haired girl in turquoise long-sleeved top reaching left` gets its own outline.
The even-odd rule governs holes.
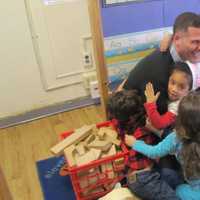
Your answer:
[[[178,107],[175,132],[155,146],[125,135],[125,143],[152,159],[174,154],[186,183],[176,188],[181,200],[200,199],[200,89],[183,97]]]

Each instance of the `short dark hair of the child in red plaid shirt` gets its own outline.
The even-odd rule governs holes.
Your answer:
[[[141,97],[134,90],[123,90],[111,95],[107,110],[110,118],[115,118],[127,134],[132,134],[138,127],[144,127],[146,113]]]

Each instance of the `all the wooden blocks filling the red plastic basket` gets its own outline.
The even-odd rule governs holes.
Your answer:
[[[117,138],[118,133],[111,127],[98,129],[96,125],[84,125],[53,146],[51,152],[55,155],[63,153],[70,167],[79,167],[101,158],[116,155],[116,146],[120,146],[121,143]],[[113,162],[116,165],[124,165],[124,159],[117,159]],[[92,184],[95,186],[101,178],[100,176],[105,174],[108,179],[117,177],[118,174],[114,171],[112,162],[103,162],[97,167],[79,171],[77,176],[80,187],[87,188]],[[110,190],[112,187],[112,184],[104,184],[104,188],[102,186],[94,188],[93,192],[94,190],[101,192],[105,188]],[[90,192],[84,191],[85,194]]]

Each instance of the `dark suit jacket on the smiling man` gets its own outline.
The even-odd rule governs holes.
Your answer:
[[[136,89],[145,101],[145,86],[151,82],[155,92],[160,91],[156,102],[158,111],[160,114],[165,113],[168,99],[167,85],[173,64],[174,61],[169,50],[166,52],[155,50],[132,69],[124,84],[124,89]]]

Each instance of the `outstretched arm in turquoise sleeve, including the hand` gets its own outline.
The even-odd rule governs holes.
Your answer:
[[[132,147],[135,151],[153,159],[173,153],[177,144],[175,133],[169,134],[163,141],[154,146],[145,144],[142,140],[136,140],[130,135],[125,135],[125,143],[126,145]]]

